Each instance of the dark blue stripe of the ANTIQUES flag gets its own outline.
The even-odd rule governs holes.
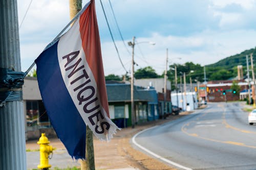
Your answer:
[[[56,42],[35,60],[42,100],[58,138],[75,159],[86,156],[86,124],[63,82]]]

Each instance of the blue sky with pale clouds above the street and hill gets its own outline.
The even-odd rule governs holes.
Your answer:
[[[104,74],[131,72],[135,36],[135,70],[153,67],[157,74],[177,63],[207,65],[256,46],[256,1],[253,0],[101,0],[117,44],[119,61],[99,0],[95,1]],[[18,0],[22,22],[31,0]],[[83,0],[85,5],[88,0]],[[32,1],[19,29],[22,71],[68,24],[69,1]],[[154,42],[153,45],[151,42]],[[168,48],[168,51],[167,51]],[[167,53],[168,52],[168,53]]]

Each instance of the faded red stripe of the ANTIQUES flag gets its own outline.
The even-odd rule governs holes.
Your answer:
[[[91,1],[89,7],[80,16],[79,24],[82,48],[97,83],[100,103],[110,117],[94,0]]]

